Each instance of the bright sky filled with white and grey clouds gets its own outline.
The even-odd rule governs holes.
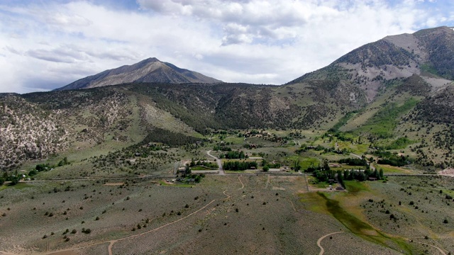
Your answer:
[[[1,0],[0,92],[157,57],[228,82],[284,84],[386,35],[454,26],[451,0]]]

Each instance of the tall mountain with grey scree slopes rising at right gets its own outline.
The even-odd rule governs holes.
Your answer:
[[[454,79],[454,30],[440,27],[392,35],[363,45],[288,84],[333,81],[359,88],[372,101],[386,81],[417,75],[435,90]]]

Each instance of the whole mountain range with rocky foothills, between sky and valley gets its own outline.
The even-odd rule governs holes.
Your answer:
[[[0,168],[68,149],[109,151],[153,134],[251,128],[345,132],[376,146],[408,137],[419,163],[453,166],[445,158],[454,148],[453,39],[445,27],[389,36],[284,86],[190,83],[166,71],[185,70],[149,59],[61,91],[1,94]],[[133,81],[126,76],[134,83],[104,86]]]

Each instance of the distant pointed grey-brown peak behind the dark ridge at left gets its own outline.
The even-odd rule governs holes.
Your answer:
[[[198,72],[181,69],[173,64],[161,62],[152,57],[136,64],[125,65],[116,69],[106,70],[83,79],[74,81],[59,90],[89,89],[99,86],[126,84],[131,82],[160,82],[169,84],[204,83],[213,84],[222,82],[217,79],[206,77]]]

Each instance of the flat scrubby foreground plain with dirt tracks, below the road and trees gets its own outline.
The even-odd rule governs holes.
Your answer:
[[[298,174],[207,175],[192,186],[149,179],[20,183],[0,191],[0,254],[448,254],[454,249],[453,205],[445,199],[452,193],[449,177],[394,176],[386,183],[345,185],[347,192],[316,192]]]

